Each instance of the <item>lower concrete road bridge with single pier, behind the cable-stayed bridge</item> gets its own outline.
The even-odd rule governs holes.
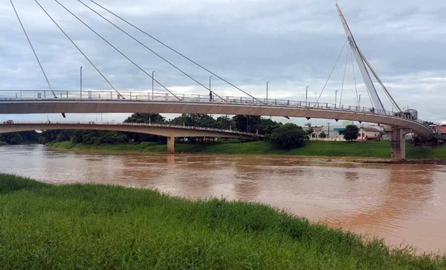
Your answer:
[[[206,127],[179,126],[167,124],[146,123],[110,123],[110,122],[14,122],[12,124],[0,124],[0,133],[21,132],[31,130],[108,130],[144,133],[167,137],[167,153],[175,152],[175,138],[185,137],[214,137],[214,138],[241,138],[252,139],[262,137],[248,132],[225,130]]]

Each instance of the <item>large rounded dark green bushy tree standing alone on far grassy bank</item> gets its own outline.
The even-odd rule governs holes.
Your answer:
[[[307,136],[302,127],[287,123],[274,129],[268,137],[274,147],[291,149],[301,147]]]

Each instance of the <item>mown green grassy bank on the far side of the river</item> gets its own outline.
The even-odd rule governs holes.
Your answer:
[[[166,153],[166,145],[156,143],[141,143],[135,145],[84,145],[72,142],[52,143],[50,149],[90,151],[90,152],[156,152]],[[175,144],[176,153],[203,154],[256,154],[256,155],[295,155],[295,156],[333,156],[333,157],[390,157],[389,142],[324,142],[310,141],[301,148],[280,150],[273,148],[268,142],[231,142],[208,144]],[[408,159],[446,159],[446,147],[435,149],[406,147]]]

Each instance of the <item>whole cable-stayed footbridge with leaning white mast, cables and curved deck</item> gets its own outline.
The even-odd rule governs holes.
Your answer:
[[[357,105],[342,105],[342,95],[344,78],[342,80],[342,88],[340,90],[339,103],[335,104],[324,103],[320,99],[326,86],[330,80],[330,77],[335,69],[333,67],[322,91],[320,92],[319,98],[316,102],[308,101],[292,101],[292,100],[277,100],[277,99],[263,99],[259,97],[254,97],[237,87],[235,84],[224,79],[217,73],[204,67],[202,64],[192,60],[185,54],[178,52],[172,47],[168,46],[163,41],[152,36],[148,32],[142,30],[138,26],[130,23],[128,20],[114,13],[110,9],[101,5],[95,0],[76,0],[82,6],[90,10],[95,16],[100,17],[108,24],[113,26],[117,31],[122,33],[127,38],[136,42],[139,46],[144,47],[151,53],[155,54],[157,57],[165,61],[176,71],[182,73],[185,77],[192,80],[194,83],[203,87],[209,94],[205,95],[190,95],[182,93],[174,93],[168,89],[167,85],[162,83],[159,79],[155,79],[153,73],[146,71],[141,65],[139,65],[135,60],[128,57],[123,51],[117,48],[115,45],[111,44],[109,40],[104,38],[104,36],[93,29],[89,24],[87,24],[82,18],[72,12],[66,5],[64,5],[59,0],[54,0],[54,2],[59,5],[63,10],[70,14],[73,18],[87,27],[95,35],[101,38],[107,45],[109,45],[116,53],[120,54],[126,60],[128,60],[132,65],[137,67],[141,72],[152,79],[152,84],[157,83],[161,86],[166,93],[154,93],[153,87],[152,92],[128,92],[118,90],[113,86],[110,79],[107,78],[99,66],[95,64],[89,56],[78,46],[78,44],[68,35],[68,33],[62,28],[62,26],[56,22],[54,16],[52,16],[47,8],[45,8],[38,0],[34,0],[38,6],[55,24],[56,29],[58,29],[63,36],[69,40],[69,42],[82,54],[85,59],[94,67],[98,74],[107,82],[111,87],[111,91],[82,91],[82,89],[73,90],[55,90],[53,89],[50,79],[48,78],[44,66],[40,61],[37,52],[35,51],[31,39],[26,32],[26,29],[20,19],[17,8],[15,7],[12,0],[10,0],[11,6],[14,13],[21,25],[23,33],[32,49],[32,52],[40,66],[42,74],[44,75],[46,82],[48,84],[49,90],[1,90],[0,91],[0,113],[97,113],[97,112],[148,112],[148,113],[212,113],[212,114],[244,114],[244,115],[272,115],[272,116],[285,116],[285,117],[306,117],[306,118],[325,118],[325,119],[343,119],[343,120],[354,120],[354,121],[364,121],[373,122],[385,125],[385,130],[390,138],[390,145],[392,149],[392,159],[402,160],[405,159],[405,141],[404,134],[413,132],[423,140],[434,139],[434,132],[431,130],[426,122],[421,121],[417,118],[417,115],[413,114],[412,111],[402,111],[395,99],[390,94],[390,91],[386,88],[382,80],[379,78],[377,72],[373,69],[369,61],[366,59],[364,54],[359,50],[356,41],[347,25],[347,22],[339,8],[336,4],[337,11],[339,13],[342,26],[346,34],[346,42],[341,50],[341,53],[336,59],[336,63],[339,60],[341,54],[343,53],[346,45],[348,44],[346,53],[346,64],[344,68],[344,78],[345,70],[347,67],[347,60],[350,57],[352,60],[352,71],[355,76],[355,68],[353,65],[353,57],[356,59],[357,67],[360,70],[360,74],[364,81],[364,85],[367,89],[367,94],[369,96],[372,108],[364,108],[360,106],[360,95],[357,92],[356,77],[355,77],[355,89],[356,89],[356,99]],[[90,3],[89,4],[87,4]],[[93,7],[94,6],[94,7]],[[101,13],[101,10],[103,13]],[[172,61],[168,60],[165,56],[155,52],[151,47],[149,47],[144,42],[135,38],[129,32],[125,31],[122,26],[118,23],[111,21],[107,18],[104,13],[113,18],[117,19],[119,22],[130,26],[145,36],[153,39],[162,46],[166,47],[175,54],[180,55],[190,63],[198,66],[204,72],[210,76],[215,76],[216,78],[222,80],[230,87],[236,91],[242,93],[243,97],[226,97],[222,96],[214,91],[209,86],[200,82],[198,79],[193,77],[191,74],[185,70],[179,68]],[[370,75],[372,74],[372,76]],[[382,88],[387,98],[389,99],[392,110],[386,110],[382,99],[378,95],[375,83]],[[336,92],[337,94],[337,92]]]

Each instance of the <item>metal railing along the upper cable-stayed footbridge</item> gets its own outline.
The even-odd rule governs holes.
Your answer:
[[[231,97],[213,95],[154,93],[141,91],[97,91],[97,90],[0,90],[0,101],[17,100],[101,100],[101,101],[135,101],[135,102],[186,102],[186,103],[213,103],[213,104],[236,104],[274,106],[289,108],[317,108],[339,111],[355,111],[364,113],[375,113],[392,117],[404,118],[415,121],[429,127],[424,121],[413,119],[410,115],[398,114],[394,111],[380,110],[375,108],[358,107],[352,105],[330,104],[319,102],[293,101],[283,99],[255,99],[248,97]]]

